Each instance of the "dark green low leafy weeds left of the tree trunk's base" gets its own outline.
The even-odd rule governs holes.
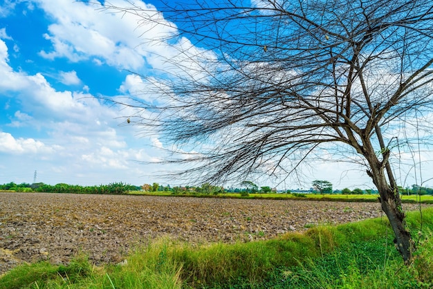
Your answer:
[[[255,288],[413,288],[391,286],[395,270],[384,272],[384,261],[399,260],[396,250],[383,240],[342,245],[323,257],[306,259],[294,267],[279,267]],[[391,275],[391,278],[390,278]],[[326,284],[326,285],[324,285]]]

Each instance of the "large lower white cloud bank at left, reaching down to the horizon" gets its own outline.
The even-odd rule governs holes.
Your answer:
[[[75,71],[62,75],[66,83],[79,82]],[[117,118],[125,111],[106,106],[89,93],[57,91],[41,73],[14,71],[1,40],[0,95],[13,95],[21,102],[21,109],[10,115],[6,127],[46,134],[42,139],[0,131],[1,159],[8,163],[8,171],[0,172],[5,181],[17,180],[21,171],[26,171],[23,156],[30,170],[26,174],[30,176],[37,168],[39,180],[45,183],[145,183],[140,177],[149,173],[136,161],[158,160],[158,152],[142,149],[146,140],[133,136],[131,127],[118,126],[121,120]],[[4,106],[6,111],[11,109],[9,102]],[[24,176],[21,181],[30,180]]]

